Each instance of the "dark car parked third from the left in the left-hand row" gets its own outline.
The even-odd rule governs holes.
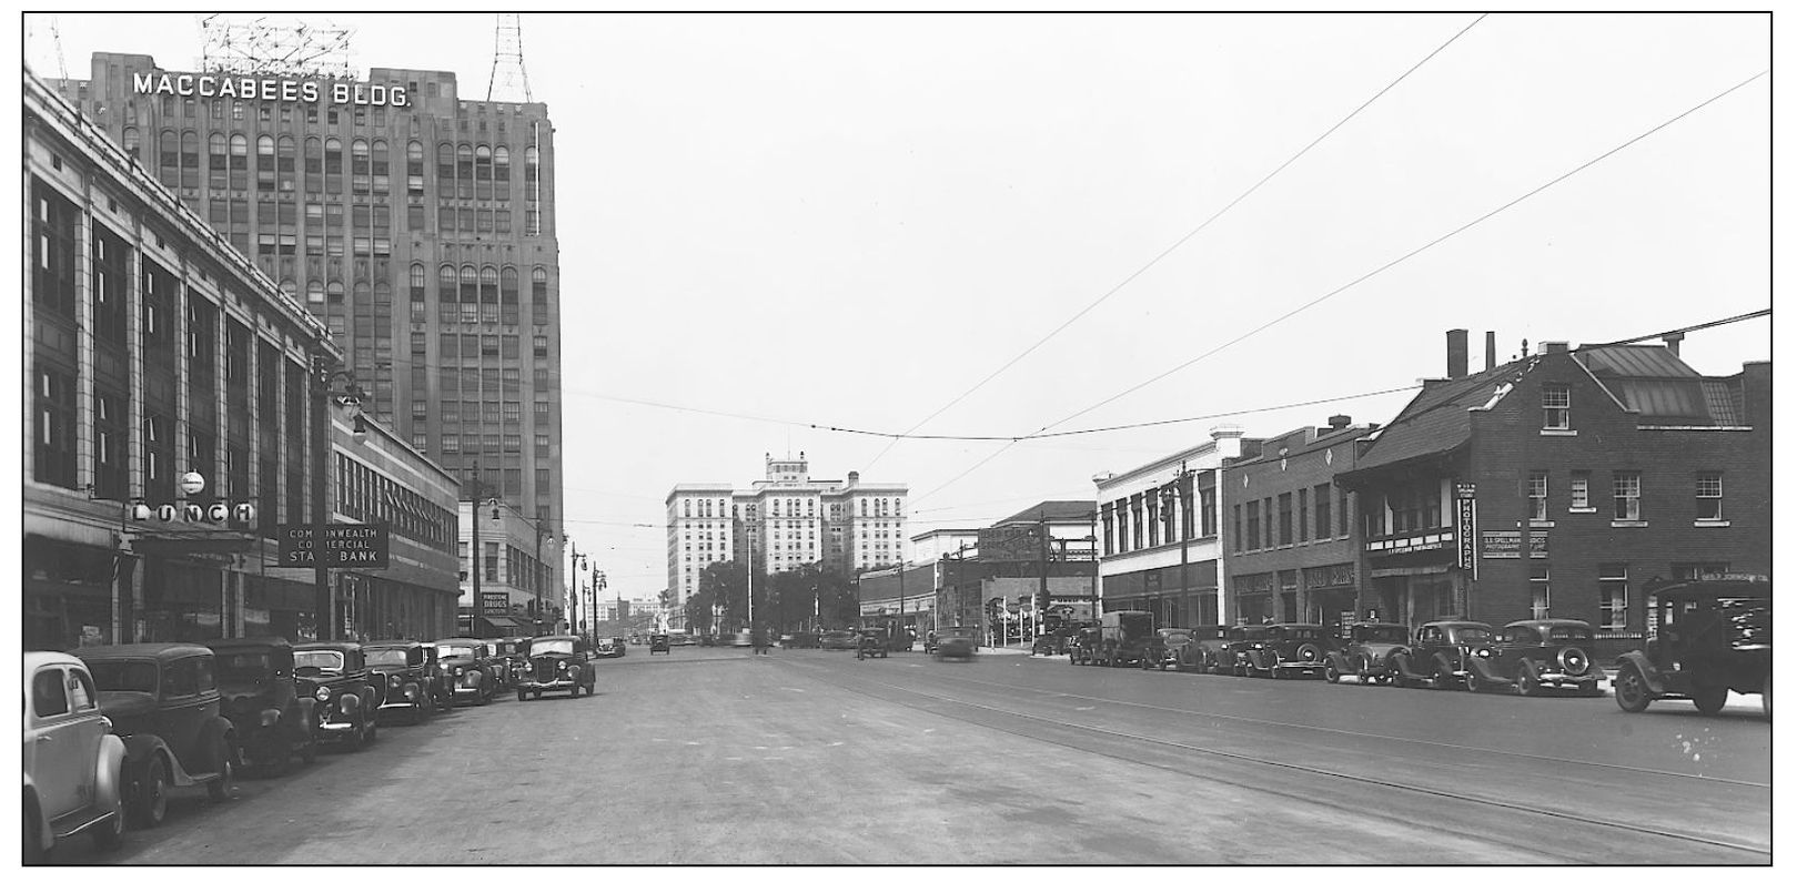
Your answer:
[[[244,766],[266,777],[282,775],[298,755],[313,762],[316,699],[293,685],[293,644],[280,636],[219,638],[207,642],[217,658],[219,710],[237,730]]]

